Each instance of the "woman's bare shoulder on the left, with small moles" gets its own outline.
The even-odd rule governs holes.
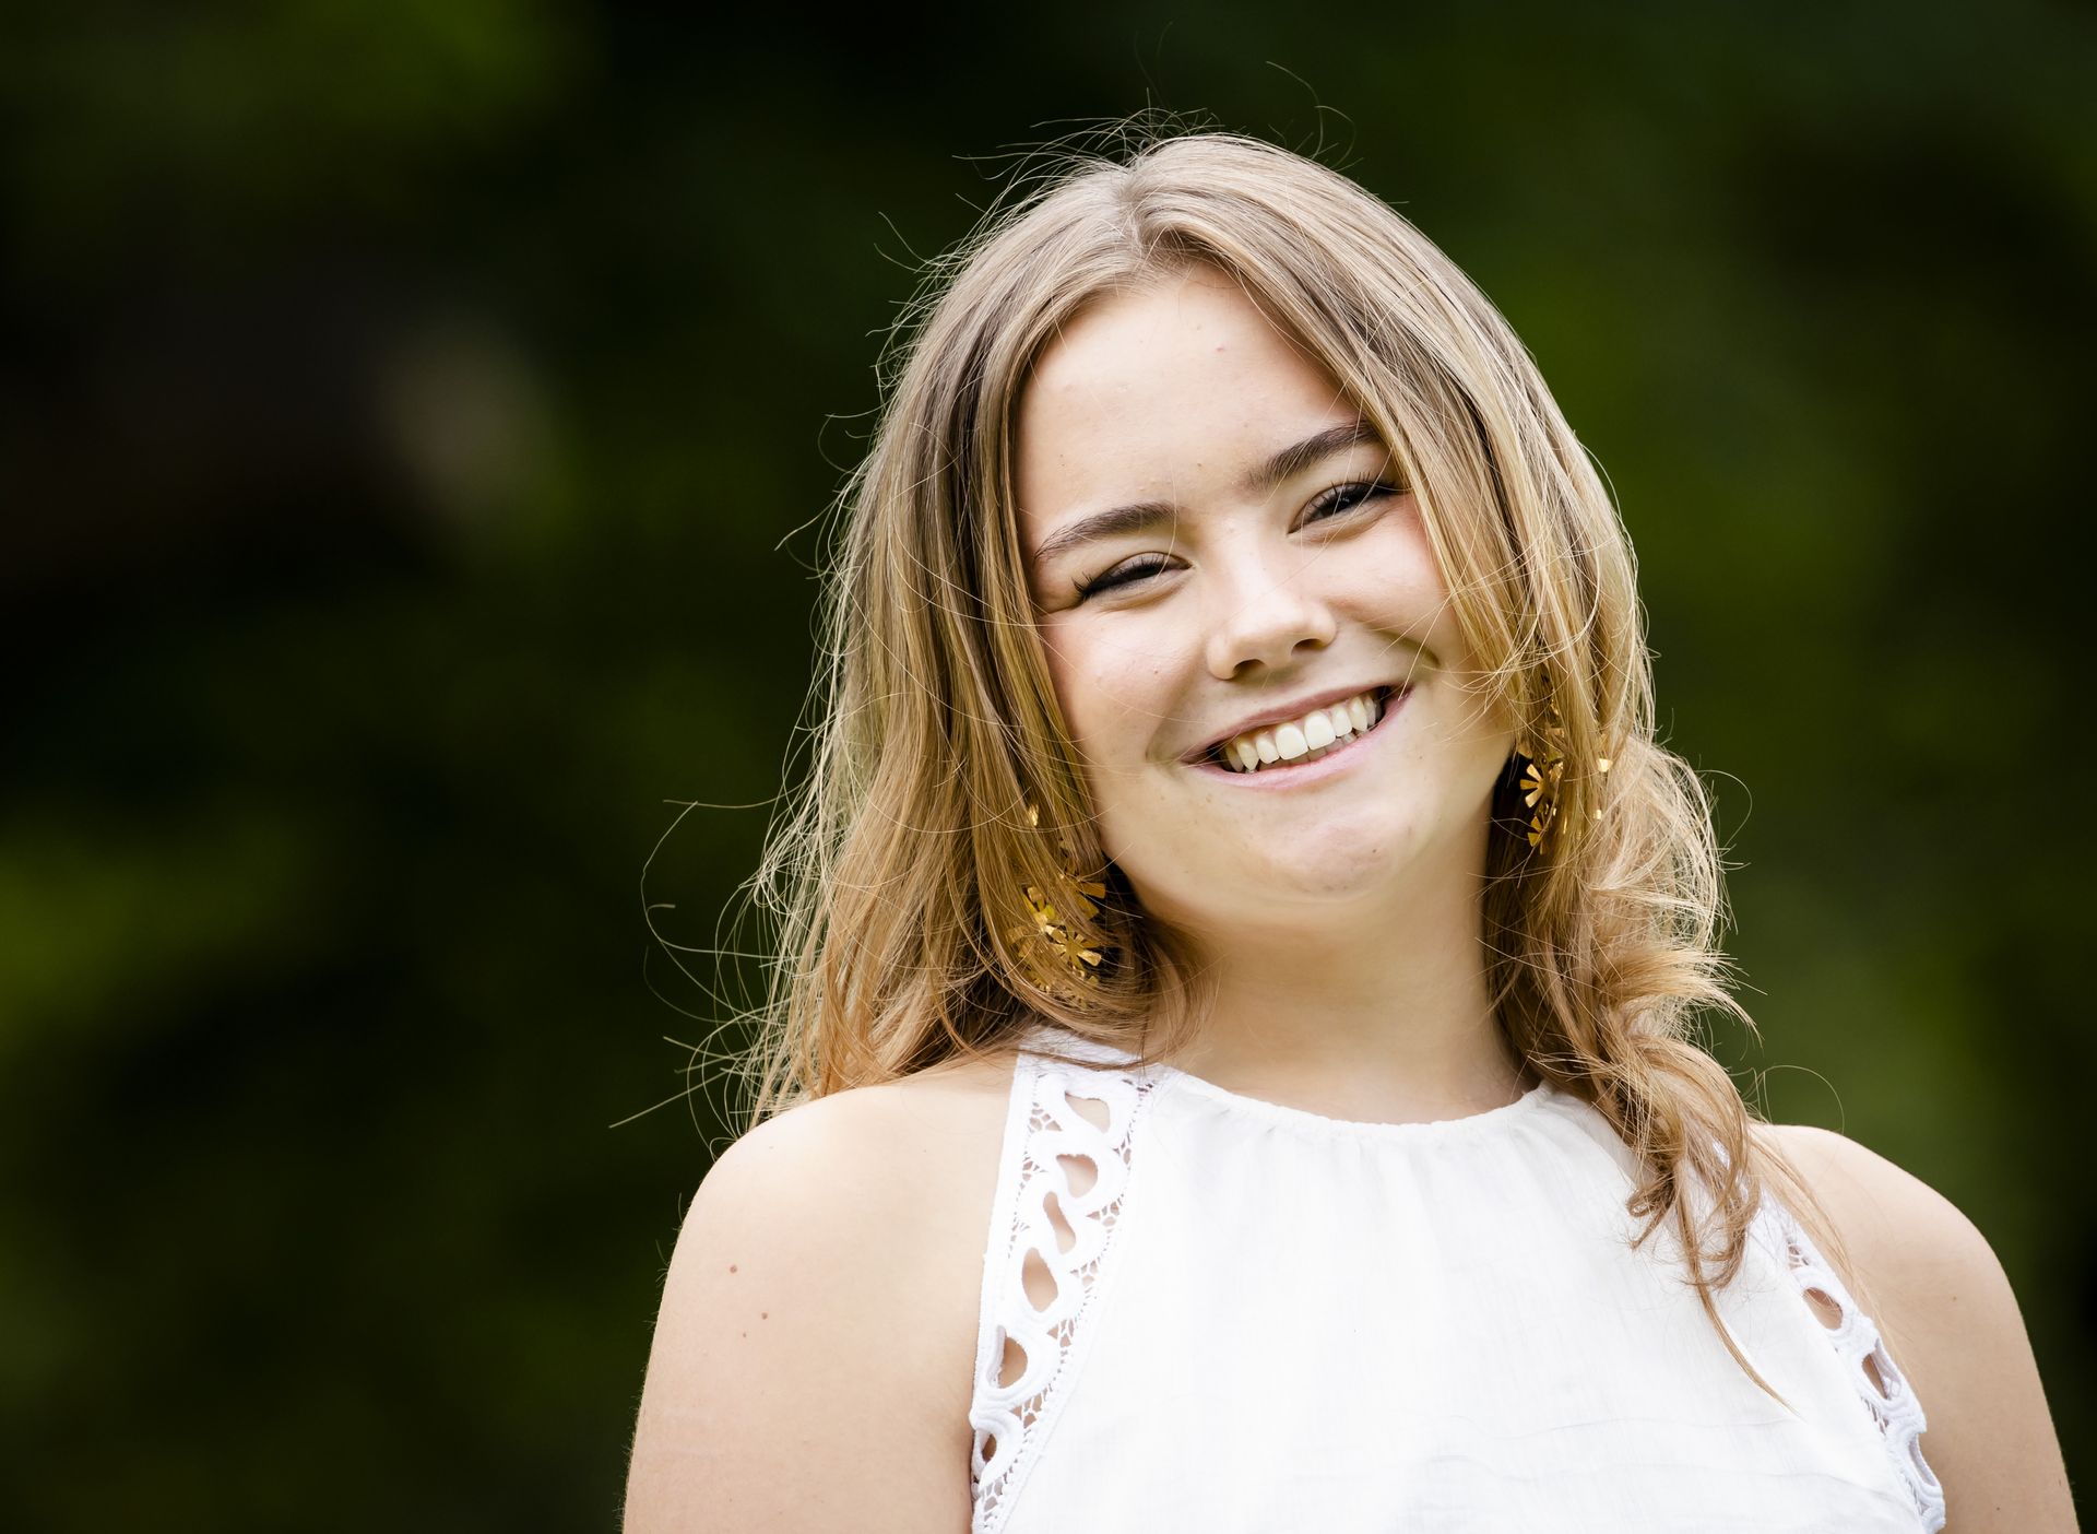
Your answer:
[[[967,1530],[1011,1062],[791,1108],[700,1181],[663,1284],[627,1534]]]

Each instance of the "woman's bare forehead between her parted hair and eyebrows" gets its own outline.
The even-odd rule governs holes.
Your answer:
[[[1342,390],[1227,275],[1195,269],[1084,308],[1019,397],[1019,512],[1237,478],[1353,418]]]

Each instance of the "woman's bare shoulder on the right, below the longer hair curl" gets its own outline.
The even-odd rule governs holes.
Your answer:
[[[2074,1500],[2038,1364],[1988,1238],[1944,1194],[1833,1129],[1757,1125],[1841,1230],[1873,1322],[1929,1427],[1946,1534],[2072,1534]]]

